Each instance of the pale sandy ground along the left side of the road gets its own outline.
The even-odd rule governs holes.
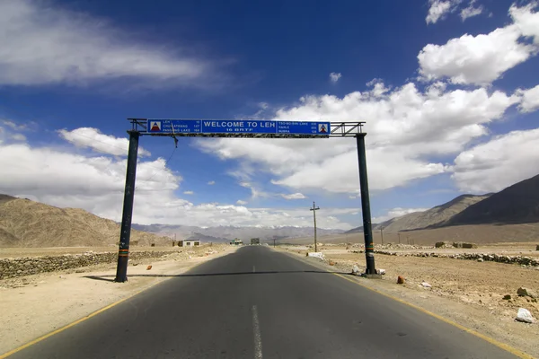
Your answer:
[[[205,252],[212,249],[217,252],[207,256]],[[128,282],[122,284],[86,277],[110,276],[113,278],[116,274],[116,264],[2,280],[0,281],[0,338],[2,338],[0,354],[167,279],[166,277],[129,275],[178,275],[202,262],[229,254],[234,250],[237,250],[237,247],[203,246],[194,250],[189,259],[179,260],[172,255],[164,260],[156,258],[140,260],[136,267],[132,265],[128,267]],[[53,254],[52,250],[50,254]],[[148,265],[152,265],[150,270],[146,270]]]

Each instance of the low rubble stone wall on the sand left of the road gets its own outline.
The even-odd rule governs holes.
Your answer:
[[[165,257],[170,251],[134,251],[129,253],[133,260],[145,258]],[[47,256],[36,258],[3,258],[0,259],[0,279],[18,276],[30,276],[38,273],[54,272],[57,270],[76,267],[95,266],[102,263],[113,263],[118,260],[118,253],[94,253],[88,251],[83,254],[66,254],[63,256]]]

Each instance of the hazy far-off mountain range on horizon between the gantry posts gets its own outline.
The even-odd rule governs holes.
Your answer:
[[[216,227],[197,227],[187,225],[168,225],[168,224],[132,224],[134,229],[144,232],[156,233],[173,237],[177,240],[198,239],[201,241],[224,242],[232,241],[234,238],[247,241],[251,238],[260,238],[261,241],[282,240],[286,238],[299,238],[314,235],[313,227],[294,227],[294,226],[216,226]],[[342,230],[332,230],[318,228],[319,235],[340,234]]]

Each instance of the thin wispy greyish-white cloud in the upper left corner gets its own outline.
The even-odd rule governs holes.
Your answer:
[[[0,84],[85,85],[134,79],[199,85],[213,66],[181,48],[137,42],[139,29],[75,13],[48,2],[0,2]]]

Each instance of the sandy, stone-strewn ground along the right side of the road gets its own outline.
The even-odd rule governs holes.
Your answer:
[[[281,247],[305,258],[305,246]],[[495,252],[511,250],[498,246]],[[311,250],[312,251],[312,250]],[[331,270],[350,273],[354,264],[365,269],[365,254],[347,253],[344,247],[322,250],[334,266]],[[298,253],[299,252],[299,253]],[[317,261],[311,259],[311,261]],[[529,355],[539,357],[539,304],[535,299],[519,297],[517,289],[525,286],[539,292],[539,270],[494,262],[477,262],[453,258],[416,258],[376,255],[376,268],[384,268],[382,280],[358,278],[364,285],[389,293],[406,302],[435,312],[449,320],[493,337]],[[404,285],[397,285],[404,276]],[[420,286],[422,282],[431,288]],[[509,294],[511,300],[504,300]],[[517,322],[518,308],[526,308],[534,324]]]

